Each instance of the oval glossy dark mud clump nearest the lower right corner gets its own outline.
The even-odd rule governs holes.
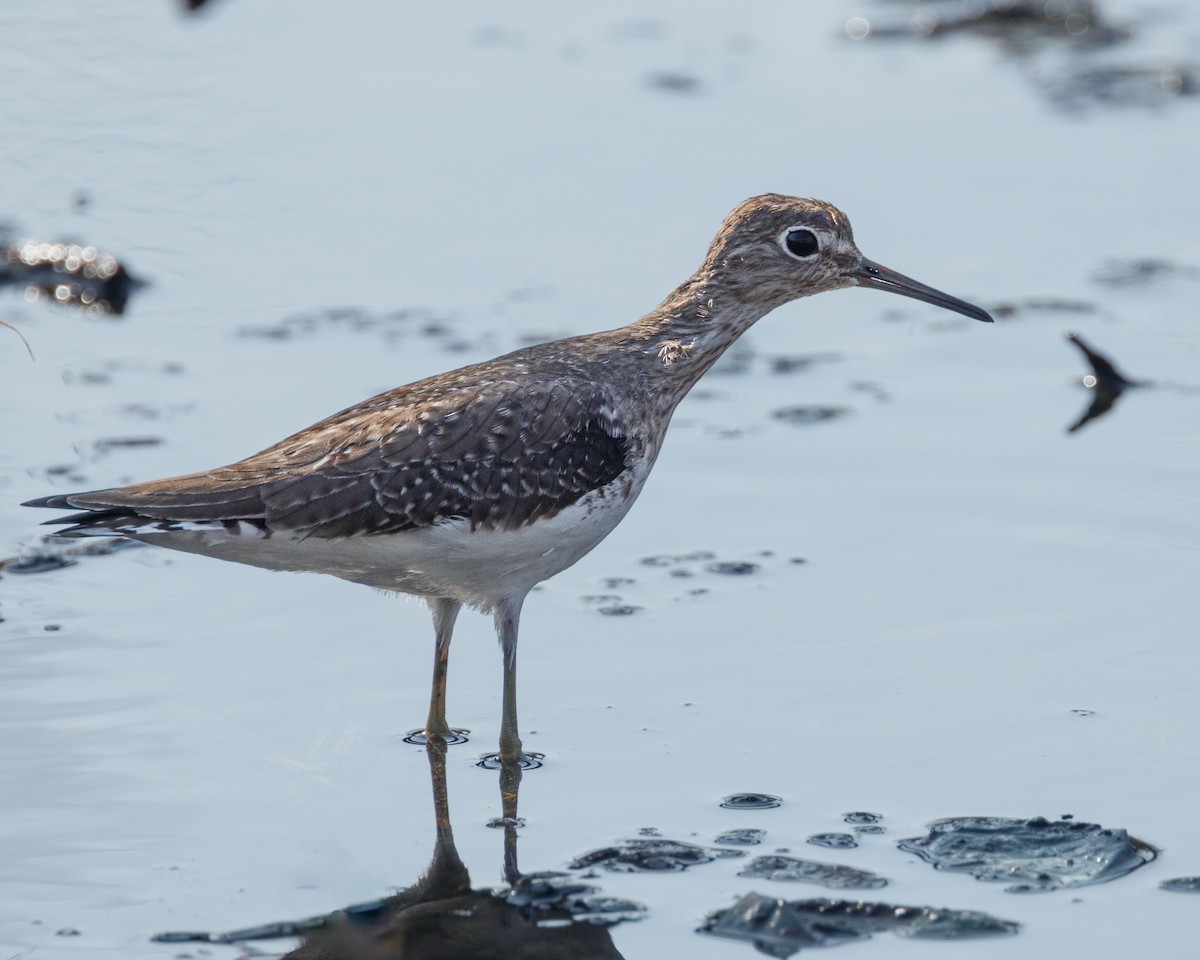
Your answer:
[[[1123,877],[1158,856],[1121,829],[1074,820],[949,817],[929,824],[926,836],[901,840],[938,870],[995,883],[1018,881],[1008,893],[1084,887]]]

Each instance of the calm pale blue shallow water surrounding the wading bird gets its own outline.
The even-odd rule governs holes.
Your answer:
[[[822,295],[706,378],[630,518],[526,606],[546,766],[522,784],[521,869],[643,828],[760,829],[755,854],[1021,924],[856,952],[1183,955],[1192,901],[1158,884],[1200,872],[1200,108],[1088,91],[1187,67],[1200,16],[1102,13],[1129,38],[852,41],[852,17],[910,16],[869,0],[0,10],[6,235],[146,282],[122,317],[0,288],[36,355],[0,329],[0,557],[37,550],[20,500],[229,462],[377,390],[628,322],[744,197],[829,199],[866,256],[998,322]],[[1091,394],[1067,328],[1153,382],[1073,434]],[[402,739],[425,713],[420,605],[150,548],[73,559],[0,570],[0,956],[163,960],[181,948],[158,931],[413,883],[434,838]],[[449,754],[458,852],[498,886],[479,617],[449,719],[472,731]],[[739,793],[782,803],[722,809]],[[1162,856],[1014,898],[895,846],[941,817],[1063,814]],[[854,848],[806,844],[851,829]],[[749,955],[694,931],[751,892],[806,893],[745,863],[606,871],[605,895],[647,907],[617,949]]]

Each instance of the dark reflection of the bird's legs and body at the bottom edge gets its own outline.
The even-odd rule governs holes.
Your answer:
[[[392,896],[305,920],[264,924],[227,934],[161,934],[160,942],[235,943],[305,936],[282,960],[622,960],[608,928],[636,919],[640,904],[596,895],[596,888],[558,872],[522,874],[517,866],[521,767],[500,769],[506,889],[472,889],[455,847],[446,790],[446,742],[427,738],[437,824],[425,874]]]

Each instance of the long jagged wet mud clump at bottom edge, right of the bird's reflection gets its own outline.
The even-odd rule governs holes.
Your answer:
[[[919,940],[1010,936],[1020,929],[974,910],[906,907],[862,900],[776,900],[749,893],[728,910],[709,914],[700,932],[752,943],[786,958],[805,947],[834,947],[890,931]]]

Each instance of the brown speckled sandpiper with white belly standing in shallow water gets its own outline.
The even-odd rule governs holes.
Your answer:
[[[228,467],[30,500],[62,536],[128,536],[424,598],[436,655],[426,733],[445,737],[455,618],[492,614],[504,660],[500,758],[520,762],[517,623],[529,590],[629,512],[671,415],[751,324],[822,290],[870,287],[991,322],[868,260],[821,200],[754,197],[700,269],[638,320],[418,380]]]

